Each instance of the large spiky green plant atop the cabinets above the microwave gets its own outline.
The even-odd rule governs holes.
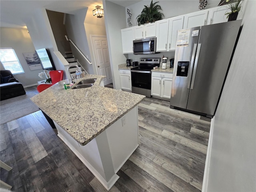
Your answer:
[[[139,26],[163,19],[164,14],[160,12],[162,8],[160,5],[156,5],[158,2],[153,3],[152,0],[150,6],[144,5],[142,12],[136,18]]]

